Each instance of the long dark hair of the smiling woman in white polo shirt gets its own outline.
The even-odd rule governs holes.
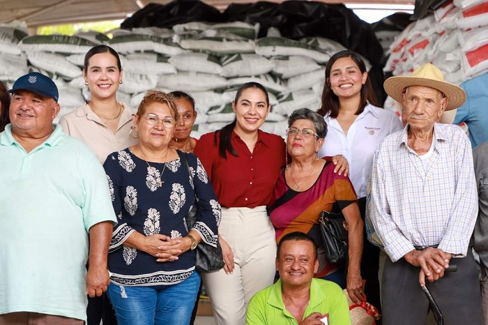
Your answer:
[[[321,107],[317,111],[319,114],[321,114],[321,116],[330,114],[330,117],[335,118],[339,114],[339,98],[330,88],[329,78],[330,70],[332,70],[332,66],[334,65],[335,61],[344,57],[350,57],[358,65],[361,73],[367,73],[365,62],[356,52],[345,50],[337,52],[331,56],[326,66],[326,82],[323,84]],[[373,86],[369,81],[369,76],[366,78],[366,82],[363,84],[363,87],[361,87],[361,100],[359,102],[358,110],[356,110],[356,115],[361,114],[363,110],[365,110],[368,102],[374,106],[379,106],[378,101],[376,100],[376,95],[374,94]]]

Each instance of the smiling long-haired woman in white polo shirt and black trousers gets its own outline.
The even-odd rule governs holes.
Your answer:
[[[384,137],[402,130],[402,122],[394,112],[378,107],[363,59],[347,50],[337,52],[327,63],[319,114],[328,125],[319,157],[342,153],[347,158],[364,220],[374,151]],[[370,303],[381,308],[379,248],[369,243],[367,236],[364,241],[361,275],[366,280],[365,294]]]

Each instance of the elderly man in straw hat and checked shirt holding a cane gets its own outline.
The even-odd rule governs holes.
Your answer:
[[[384,84],[407,125],[386,137],[372,169],[369,218],[389,259],[383,269],[383,325],[425,324],[430,291],[445,324],[480,324],[478,271],[470,238],[478,212],[473,156],[461,128],[436,123],[466,93],[430,63]],[[444,273],[450,265],[457,272]],[[419,285],[420,282],[420,285]]]

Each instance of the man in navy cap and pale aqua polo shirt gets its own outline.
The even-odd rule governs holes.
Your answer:
[[[59,93],[49,77],[29,73],[8,92],[10,124],[0,133],[0,325],[81,325],[86,294],[100,296],[109,283],[116,219],[105,172],[85,144],[53,124]]]

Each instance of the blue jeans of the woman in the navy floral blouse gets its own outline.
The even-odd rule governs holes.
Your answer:
[[[110,283],[107,294],[119,325],[188,325],[200,286],[193,272],[177,285],[126,287]]]

